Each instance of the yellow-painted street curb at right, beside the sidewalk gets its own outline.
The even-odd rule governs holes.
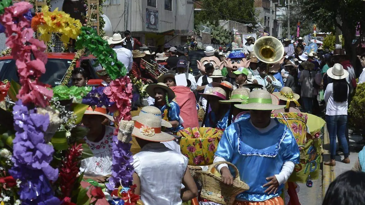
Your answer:
[[[328,135],[328,131],[327,131],[327,124],[324,126],[324,135],[323,135],[323,147],[326,144],[330,144],[330,138]],[[329,150],[325,150],[323,148],[323,162],[328,162],[331,159],[330,157],[330,151]],[[330,186],[330,183],[333,182],[333,180],[335,179],[335,169],[333,166],[327,166],[324,165],[322,162],[322,166],[323,166],[323,171],[322,171],[322,198],[324,198],[324,196],[326,196],[326,191],[328,189],[328,186]]]

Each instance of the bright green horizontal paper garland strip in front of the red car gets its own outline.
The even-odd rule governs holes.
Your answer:
[[[76,87],[70,88],[66,85],[58,85],[53,88],[53,97],[57,97],[58,100],[69,100],[71,98],[81,99],[87,95],[91,90],[91,87]]]

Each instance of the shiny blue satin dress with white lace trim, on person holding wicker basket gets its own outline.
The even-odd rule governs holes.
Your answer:
[[[276,194],[264,193],[266,177],[279,174],[284,162],[299,163],[299,148],[292,132],[274,119],[277,125],[268,132],[259,132],[250,118],[234,122],[223,132],[215,155],[233,163],[239,177],[250,186],[238,194],[238,201],[260,202],[280,196],[284,184]],[[233,169],[230,169],[234,173]]]

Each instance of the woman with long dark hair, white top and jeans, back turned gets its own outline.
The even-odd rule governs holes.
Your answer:
[[[328,134],[330,135],[331,161],[324,162],[324,165],[336,165],[336,135],[343,147],[345,159],[342,162],[348,164],[350,163],[349,147],[345,131],[347,123],[347,96],[349,95],[346,77],[349,76],[349,73],[343,69],[341,64],[335,63],[333,67],[327,70],[327,75],[333,79],[333,82],[327,85],[326,92],[324,92],[324,101],[327,103],[326,123]]]

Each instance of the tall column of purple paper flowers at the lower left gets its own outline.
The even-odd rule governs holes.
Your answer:
[[[13,108],[15,138],[9,173],[20,179],[19,196],[23,204],[59,205],[54,197],[50,180],[56,181],[58,169],[49,165],[53,159],[53,147],[45,144],[43,133],[49,124],[48,115],[40,115],[35,109],[28,110],[19,100]]]

